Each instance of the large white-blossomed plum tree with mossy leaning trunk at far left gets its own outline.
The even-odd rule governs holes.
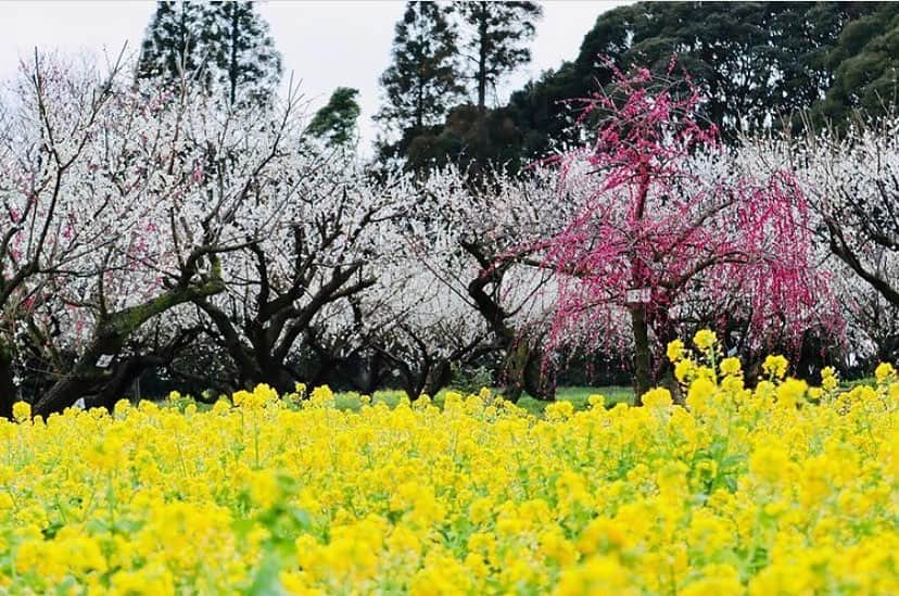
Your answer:
[[[46,373],[38,414],[139,373],[141,328],[221,292],[220,255],[278,218],[251,205],[290,149],[295,96],[224,112],[194,88],[131,80],[37,56],[8,107],[4,329]],[[195,332],[168,331],[162,353]]]

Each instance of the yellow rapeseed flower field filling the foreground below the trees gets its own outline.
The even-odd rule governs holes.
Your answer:
[[[481,392],[333,407],[262,385],[207,411],[0,422],[12,594],[899,593],[899,382],[756,389],[682,343],[686,405],[536,418]],[[716,364],[719,363],[719,364]],[[183,409],[183,411],[182,411]]]

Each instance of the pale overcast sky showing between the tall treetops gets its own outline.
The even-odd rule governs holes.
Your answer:
[[[544,2],[544,16],[532,45],[533,61],[509,76],[499,101],[547,68],[578,55],[596,17],[623,1]],[[137,53],[155,2],[4,1],[0,2],[0,77],[15,74],[18,61],[40,49],[117,54],[127,42]],[[390,64],[393,26],[402,1],[267,1],[257,3],[281,52],[284,78],[292,71],[312,107],[324,104],[335,87],[359,89],[364,151],[375,139],[371,115],[378,110],[378,77]]]

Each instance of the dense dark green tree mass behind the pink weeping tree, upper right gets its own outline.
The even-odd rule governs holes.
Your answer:
[[[727,143],[784,122],[843,127],[857,109],[883,115],[895,104],[895,4],[887,2],[619,7],[597,15],[577,56],[514,91],[507,105],[482,115],[485,131],[480,137],[466,135],[473,118],[465,117],[468,104],[461,102],[442,126],[407,139],[405,156],[416,169],[447,161],[508,162],[518,169],[578,141],[572,109],[597,86],[612,84],[615,68],[638,64],[663,74],[672,55],[693,75],[705,98],[704,118]]]

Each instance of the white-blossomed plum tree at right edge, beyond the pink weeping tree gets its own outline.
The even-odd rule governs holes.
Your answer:
[[[810,198],[809,225],[830,256],[821,275],[839,297],[852,364],[892,359],[899,347],[898,132],[899,118],[889,116],[840,134],[754,139],[743,150],[757,164],[789,167]]]

